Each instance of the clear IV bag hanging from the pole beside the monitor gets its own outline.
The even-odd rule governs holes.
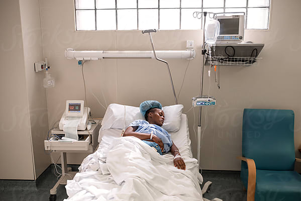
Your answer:
[[[214,44],[220,33],[220,22],[214,19],[206,21],[205,25],[205,41],[206,43]]]

